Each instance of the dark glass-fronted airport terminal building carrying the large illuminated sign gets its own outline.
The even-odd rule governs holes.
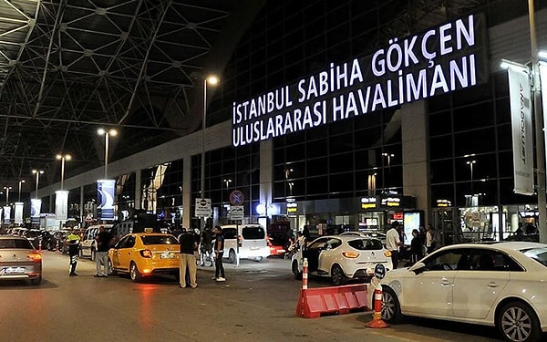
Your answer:
[[[432,224],[450,244],[535,224],[533,184],[515,192],[522,172],[500,67],[530,67],[526,2],[264,3],[232,48],[217,51],[229,56],[212,70],[221,81],[204,82],[192,109],[205,129],[108,164],[117,218],[142,209],[199,226],[204,198],[210,223],[228,223],[237,191],[243,222],[320,233],[399,221]],[[542,49],[547,3],[536,3]],[[97,214],[88,193],[101,176],[98,165],[65,180],[69,213]],[[39,189],[42,212],[57,188]]]

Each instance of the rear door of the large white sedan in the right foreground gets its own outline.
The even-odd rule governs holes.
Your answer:
[[[507,254],[486,248],[470,249],[468,263],[454,278],[454,316],[486,318],[511,271],[519,269]]]

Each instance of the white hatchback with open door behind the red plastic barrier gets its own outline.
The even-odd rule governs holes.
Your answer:
[[[322,236],[293,255],[291,268],[295,279],[302,278],[304,258],[308,275],[330,277],[334,285],[349,279],[369,282],[377,264],[391,270],[391,254],[380,240],[356,235]]]

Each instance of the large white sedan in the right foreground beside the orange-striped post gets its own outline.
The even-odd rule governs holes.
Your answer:
[[[382,318],[404,315],[497,326],[507,341],[545,341],[547,244],[453,244],[387,272]]]

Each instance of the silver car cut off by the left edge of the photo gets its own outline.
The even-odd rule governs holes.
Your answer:
[[[42,282],[42,254],[25,237],[0,236],[0,281],[22,279]]]

